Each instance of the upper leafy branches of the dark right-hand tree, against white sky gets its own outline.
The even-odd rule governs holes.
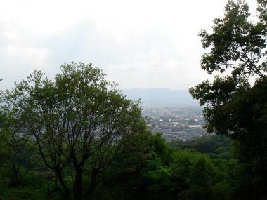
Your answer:
[[[213,32],[200,32],[203,48],[209,53],[202,56],[201,67],[209,74],[226,69],[242,69],[240,76],[263,77],[262,66],[266,56],[266,25],[249,22],[249,8],[244,1],[228,1],[223,18],[214,20]]]

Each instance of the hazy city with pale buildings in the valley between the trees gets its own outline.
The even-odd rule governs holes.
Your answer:
[[[190,140],[208,135],[200,106],[144,106],[143,116],[148,118],[152,133],[162,133],[167,141]]]

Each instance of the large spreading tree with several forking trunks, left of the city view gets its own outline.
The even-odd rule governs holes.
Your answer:
[[[89,199],[98,174],[146,125],[138,102],[127,100],[117,85],[105,81],[100,69],[74,62],[60,69],[54,81],[41,72],[30,74],[6,92],[6,107],[14,113],[19,133],[33,138],[53,171],[55,189],[59,182],[65,199]],[[74,177],[71,184],[67,173]],[[84,176],[89,176],[89,185],[84,185]]]

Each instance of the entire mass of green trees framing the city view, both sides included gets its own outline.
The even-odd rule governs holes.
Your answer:
[[[0,101],[0,199],[267,199],[267,1],[200,38],[214,81],[190,88],[211,135],[167,143],[101,69],[34,71]],[[253,22],[252,22],[253,21]],[[0,82],[1,84],[1,82]]]

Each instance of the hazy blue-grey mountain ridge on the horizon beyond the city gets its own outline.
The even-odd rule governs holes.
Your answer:
[[[122,93],[130,100],[141,99],[144,105],[198,105],[187,90],[170,90],[167,88],[126,89]]]

